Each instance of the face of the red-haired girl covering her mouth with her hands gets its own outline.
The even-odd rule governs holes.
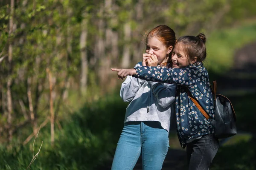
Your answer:
[[[158,59],[158,65],[167,62],[167,54],[169,54],[171,51],[172,46],[167,48],[165,45],[163,45],[163,43],[160,40],[158,40],[156,36],[147,39],[145,52],[148,54],[155,54]]]

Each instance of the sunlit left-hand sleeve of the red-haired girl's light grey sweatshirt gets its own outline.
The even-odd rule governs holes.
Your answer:
[[[140,62],[135,67],[140,66]],[[124,102],[130,102],[145,80],[128,76],[121,85],[120,97]]]

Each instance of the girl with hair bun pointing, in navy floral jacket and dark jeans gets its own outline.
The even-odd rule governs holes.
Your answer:
[[[206,58],[205,43],[204,34],[180,37],[172,52],[171,68],[140,66],[132,69],[112,69],[118,71],[119,78],[130,75],[177,85],[177,135],[181,147],[186,147],[189,170],[208,170],[219,147],[218,139],[214,136],[214,127],[187,94],[191,93],[209,117],[214,119],[209,75],[203,65]]]

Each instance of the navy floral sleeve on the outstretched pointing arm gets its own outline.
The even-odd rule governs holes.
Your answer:
[[[194,85],[197,80],[204,79],[205,68],[190,65],[186,68],[136,67],[134,77],[154,82],[165,82],[176,85]]]

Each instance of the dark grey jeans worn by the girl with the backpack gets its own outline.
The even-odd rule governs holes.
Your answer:
[[[209,170],[209,166],[219,148],[218,139],[213,134],[205,135],[186,145],[189,170]]]

